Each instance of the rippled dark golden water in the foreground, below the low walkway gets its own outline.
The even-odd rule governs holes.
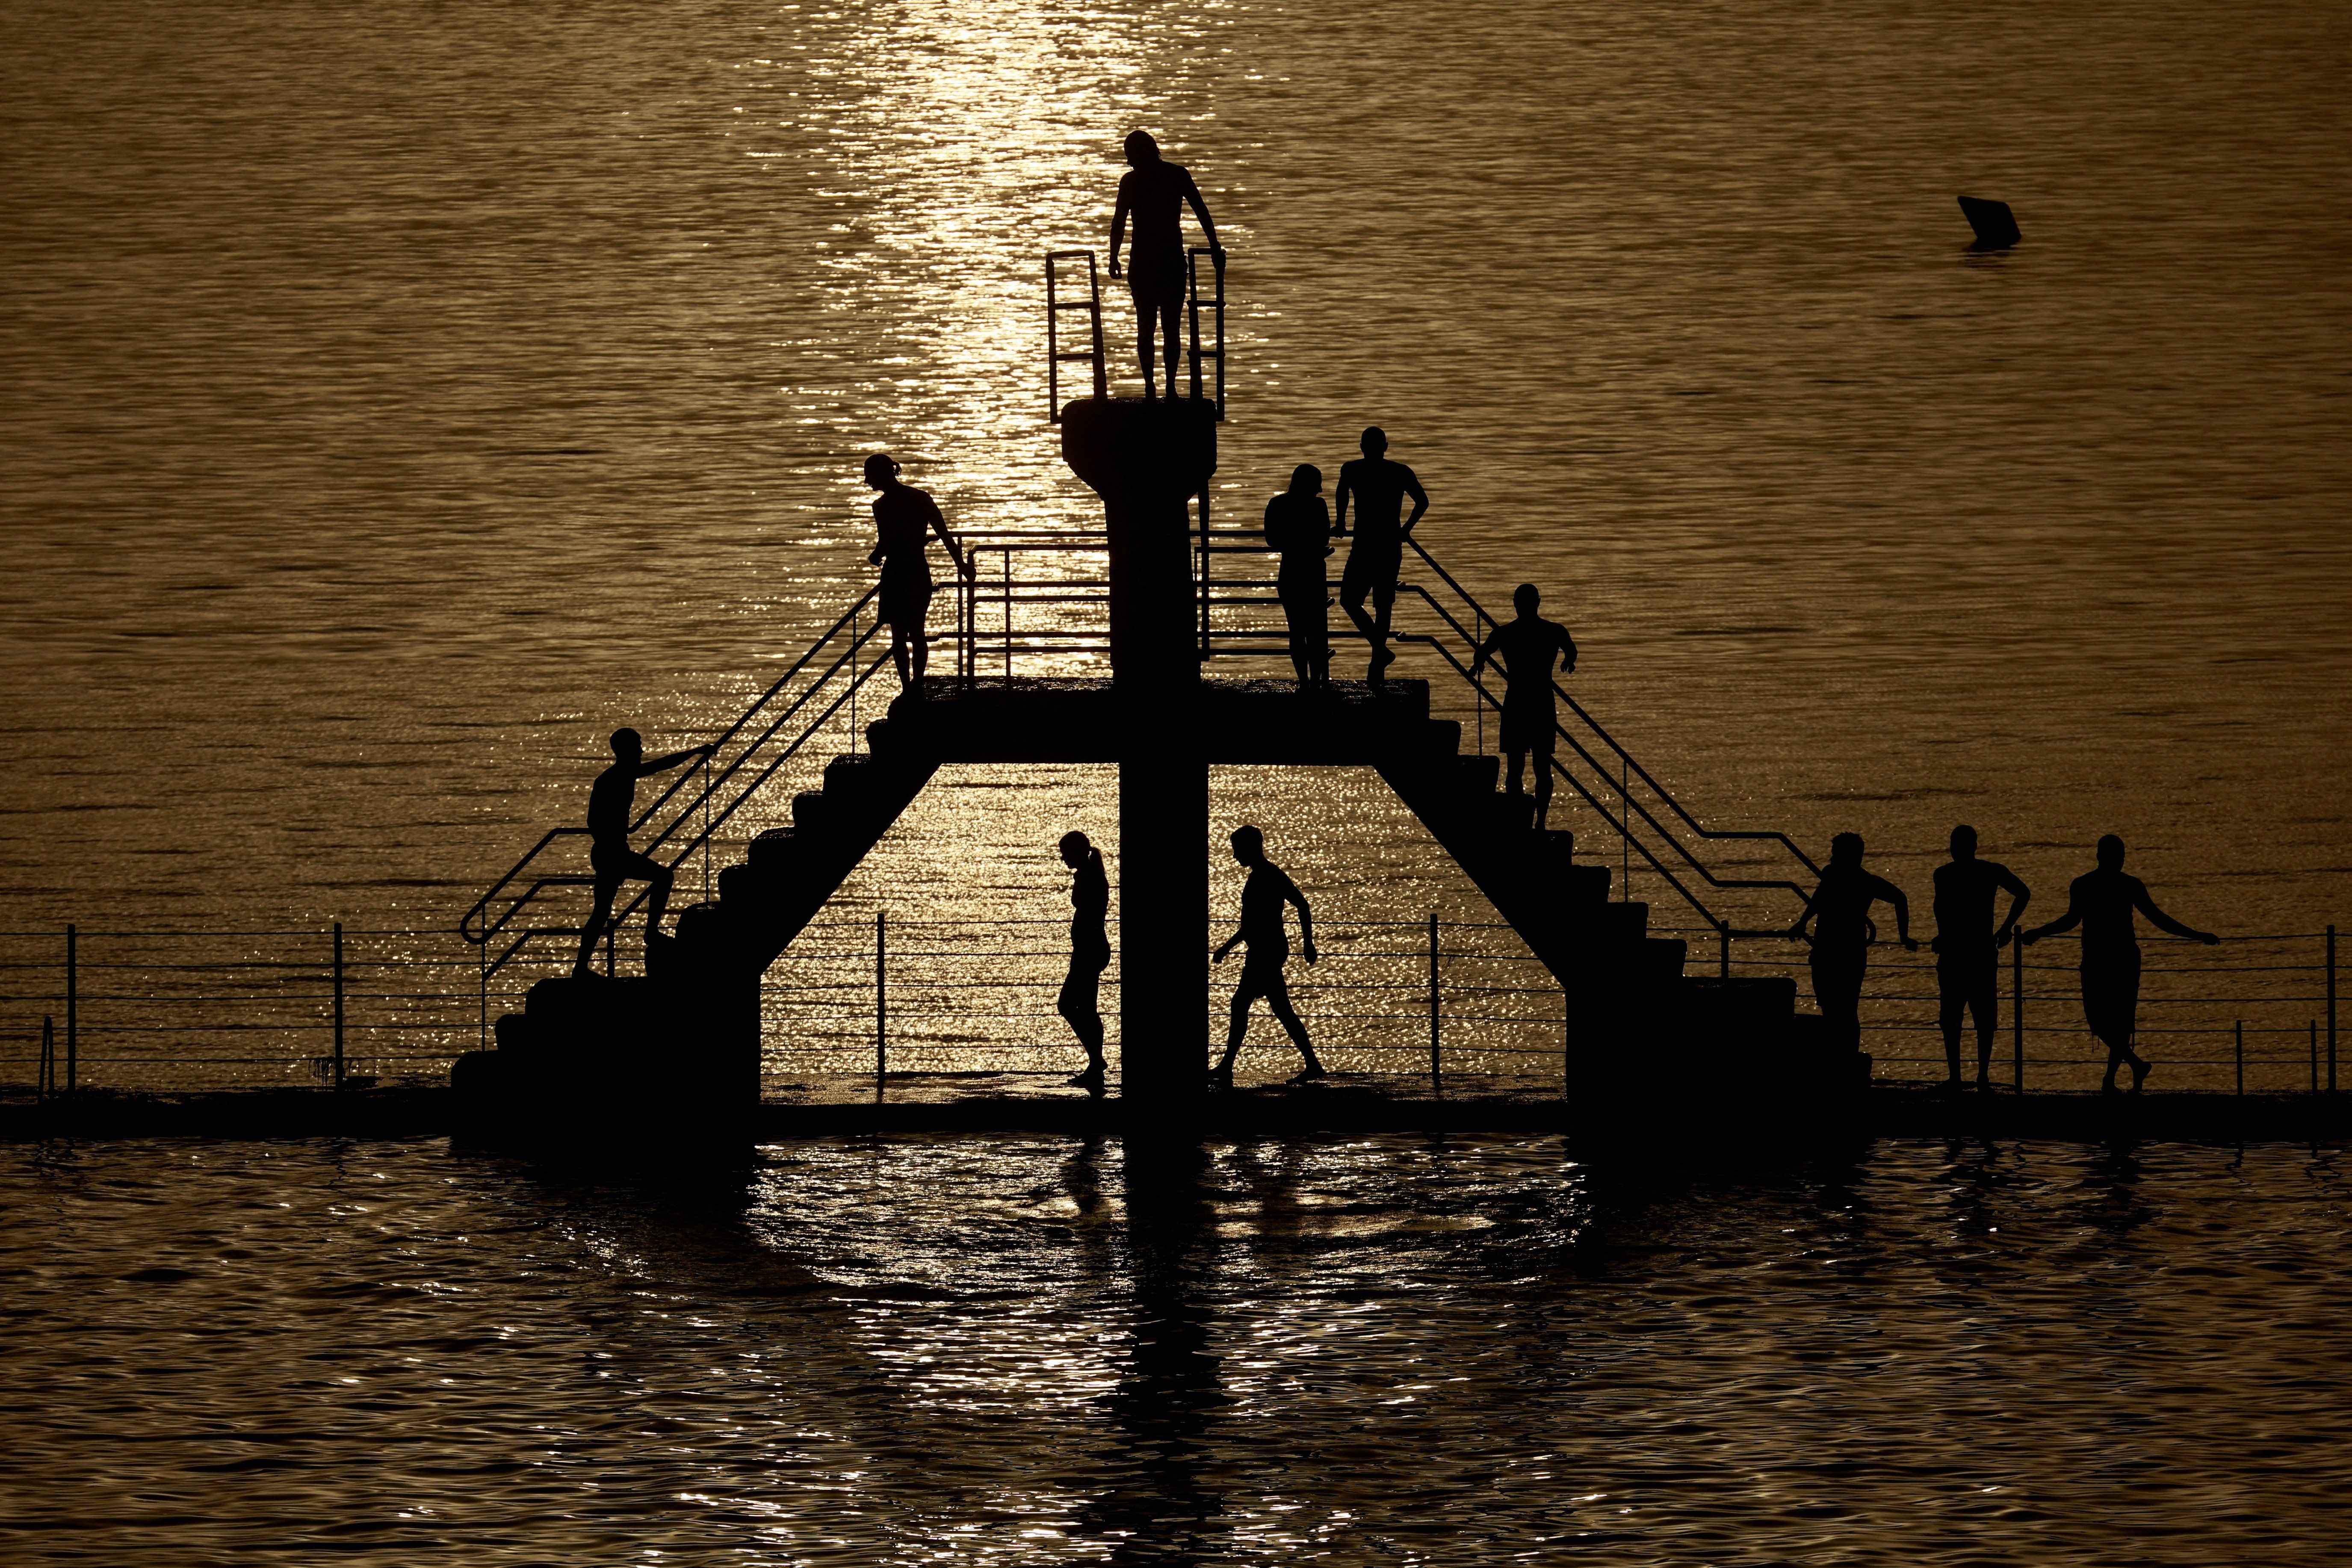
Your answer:
[[[922,1194],[913,1199],[910,1194]],[[2340,1563],[2340,1150],[0,1164],[19,1563]]]

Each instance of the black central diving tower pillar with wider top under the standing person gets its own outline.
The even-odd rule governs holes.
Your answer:
[[[1110,529],[1122,1093],[1183,1119],[1209,1067],[1209,762],[1188,501],[1216,473],[1216,404],[1073,402],[1061,454]]]

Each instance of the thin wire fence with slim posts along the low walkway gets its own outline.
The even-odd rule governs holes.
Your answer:
[[[1691,976],[1792,976],[1806,994],[1797,943],[1658,933],[1691,945]],[[1317,945],[1315,966],[1294,954],[1289,985],[1334,1072],[1557,1077],[1588,1037],[1578,1001],[1501,922],[1324,922]],[[1075,1072],[1084,1056],[1056,1011],[1065,964],[1063,922],[814,922],[762,983],[767,1081]],[[2077,971],[2072,936],[2004,950],[1999,1084],[2098,1086],[2105,1046],[2084,1027]],[[452,931],[0,931],[0,1095],[442,1081],[532,978],[487,980]],[[1240,957],[1211,971],[1216,1039],[1237,980]],[[1112,959],[1098,992],[1112,1039],[1117,985]],[[2152,943],[2138,1048],[2157,1088],[2333,1091],[2336,992],[2333,926]],[[1933,957],[1877,945],[1860,1023],[1879,1079],[1943,1079],[1938,1011]],[[1244,1070],[1296,1060],[1263,1006],[1247,1039]],[[1964,1018],[1969,1077],[1976,1056],[1978,1020]]]

